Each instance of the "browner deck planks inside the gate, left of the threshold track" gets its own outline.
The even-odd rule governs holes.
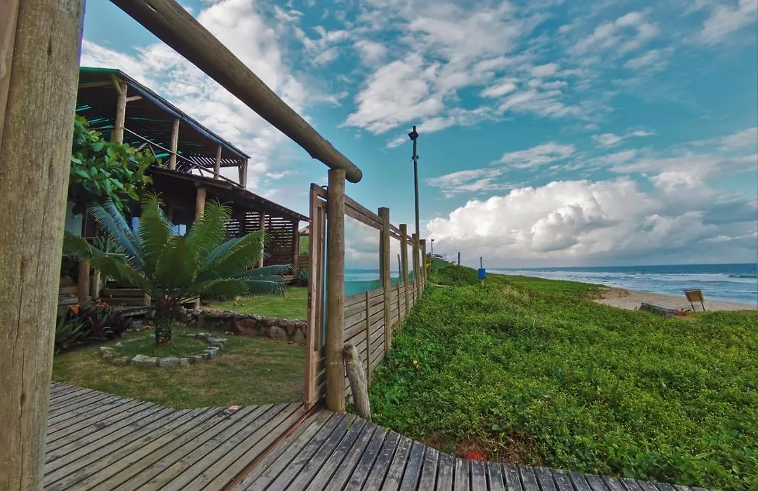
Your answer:
[[[221,490],[305,415],[302,404],[223,411],[53,383],[45,489]]]

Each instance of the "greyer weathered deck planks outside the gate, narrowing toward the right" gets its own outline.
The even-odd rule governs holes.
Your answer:
[[[318,411],[233,486],[236,491],[705,491],[453,458],[350,414]]]

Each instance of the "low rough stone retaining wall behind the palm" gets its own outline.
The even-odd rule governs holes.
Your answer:
[[[239,336],[262,336],[277,341],[305,342],[305,321],[238,314],[229,311],[186,311],[186,322],[199,329]]]

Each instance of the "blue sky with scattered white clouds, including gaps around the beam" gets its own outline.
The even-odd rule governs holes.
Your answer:
[[[363,170],[348,195],[411,231],[417,125],[435,253],[756,262],[758,0],[181,5]],[[308,213],[327,167],[108,0],[86,9],[83,65],[145,83],[251,155],[252,192]],[[346,264],[374,267],[347,220]]]

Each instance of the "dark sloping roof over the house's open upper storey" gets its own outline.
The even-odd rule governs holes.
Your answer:
[[[199,124],[127,73],[115,68],[80,67],[77,114],[86,117],[89,126],[102,132],[106,138],[115,126],[117,94],[114,77],[127,83],[128,97],[139,96],[139,99],[127,99],[124,123],[127,130],[168,149],[171,146],[174,120],[178,118],[180,125],[177,153],[189,161],[212,168],[218,145],[221,145],[221,167],[238,167],[242,161],[249,158],[245,152]],[[125,131],[124,142],[139,146],[143,140]],[[159,154],[158,157],[168,157],[168,153]],[[179,161],[177,169],[189,172],[189,164]]]

